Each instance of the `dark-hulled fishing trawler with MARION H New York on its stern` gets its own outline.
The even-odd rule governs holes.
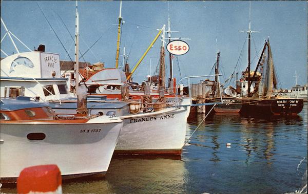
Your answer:
[[[242,104],[242,114],[298,114],[303,109],[303,99],[283,98],[273,96],[273,88],[277,89],[276,73],[272,58],[271,45],[269,40],[265,41],[262,54],[259,58],[256,70],[251,77],[248,74],[248,99]],[[261,79],[254,81],[258,68],[261,67]],[[249,72],[249,71],[248,71]],[[254,91],[250,91],[252,82],[255,82]]]

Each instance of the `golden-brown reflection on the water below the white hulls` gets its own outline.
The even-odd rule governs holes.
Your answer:
[[[180,157],[114,157],[106,178],[63,185],[70,193],[184,192],[186,169]]]

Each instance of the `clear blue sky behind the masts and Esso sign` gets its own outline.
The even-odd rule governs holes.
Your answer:
[[[60,17],[74,35],[74,1],[2,1],[1,17],[8,29],[29,48],[44,44],[46,51],[59,53],[62,60],[69,60],[37,4],[73,58],[73,40]],[[91,63],[101,61],[105,62],[107,68],[114,67],[117,43],[115,24],[118,23],[120,2],[81,1],[78,6],[81,52],[84,53],[103,35],[84,56],[85,60]],[[162,28],[163,24],[167,25],[168,14],[171,30],[180,31],[172,34],[172,37],[191,38],[186,40],[189,52],[178,57],[182,76],[209,74],[216,60],[217,49],[221,52],[222,73],[228,77],[233,72],[247,35],[239,31],[248,28],[249,1],[123,1],[122,17],[125,24],[122,29],[121,54],[125,47],[131,68],[156,36],[157,29]],[[252,1],[251,24],[252,30],[260,31],[253,34],[252,59],[255,59],[252,61],[252,69],[256,67],[259,57],[255,57],[256,52],[269,37],[281,87],[291,88],[295,84],[295,70],[300,77],[298,83],[306,83],[307,2]],[[1,25],[1,38],[4,34]],[[160,44],[158,39],[135,72],[134,81],[142,81],[150,73],[150,58],[151,72],[155,71]],[[17,45],[21,51],[27,51],[21,44]],[[246,48],[247,45],[244,46],[239,72],[247,67]],[[14,51],[8,37],[3,40],[1,49],[7,54]],[[5,55],[1,53],[1,57]],[[174,64],[175,76],[179,78],[177,61]]]

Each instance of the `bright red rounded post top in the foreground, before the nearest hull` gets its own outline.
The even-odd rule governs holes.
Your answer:
[[[62,177],[55,164],[24,168],[17,178],[18,193],[62,194]]]

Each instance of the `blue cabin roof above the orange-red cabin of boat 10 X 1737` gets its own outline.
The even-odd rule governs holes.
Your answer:
[[[36,102],[36,101],[21,100],[21,99],[9,99],[9,98],[1,98],[0,104],[1,104],[0,106],[1,111],[16,111],[21,109],[31,109],[36,107],[48,106],[44,102]]]

